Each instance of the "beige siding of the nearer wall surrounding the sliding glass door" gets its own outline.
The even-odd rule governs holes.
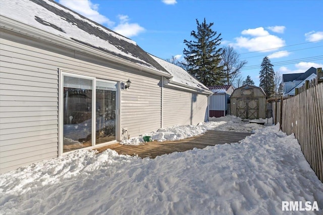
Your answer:
[[[121,91],[120,127],[131,137],[160,128],[159,76],[139,65],[130,68],[7,33],[0,39],[1,173],[58,156],[59,68],[103,80],[130,79],[131,87]]]

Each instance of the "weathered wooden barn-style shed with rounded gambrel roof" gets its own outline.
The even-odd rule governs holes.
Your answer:
[[[244,85],[230,97],[231,115],[243,119],[266,118],[266,94],[260,87]]]

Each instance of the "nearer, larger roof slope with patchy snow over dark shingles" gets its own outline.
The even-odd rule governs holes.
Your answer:
[[[167,75],[136,42],[51,0],[2,0],[1,16]],[[2,22],[1,27],[5,27]]]

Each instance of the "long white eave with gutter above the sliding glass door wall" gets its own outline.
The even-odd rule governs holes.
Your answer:
[[[90,54],[93,56],[98,56],[98,57],[110,60],[110,61],[118,63],[118,64],[127,65],[132,68],[136,68],[136,69],[139,69],[140,71],[145,71],[145,72],[153,74],[153,75],[164,76],[166,78],[173,77],[173,76],[171,76],[167,73],[164,73],[163,71],[160,71],[158,69],[153,69],[153,68],[148,68],[148,67],[142,66],[140,64],[137,64],[137,63],[122,59],[120,57],[114,56],[112,54],[97,50],[95,48],[86,46],[82,43],[79,43],[79,42],[76,42],[73,40],[69,40],[65,37],[48,33],[46,31],[35,28],[33,26],[26,25],[24,23],[10,19],[8,17],[4,17],[2,15],[0,15],[0,27],[10,30],[10,31],[14,31],[19,34],[24,34],[24,35],[27,35],[27,36],[30,36],[33,38],[37,38],[39,40],[43,40],[43,41],[46,41],[46,42],[49,42],[52,44],[56,44],[59,46],[63,46],[66,48],[77,50],[77,51],[80,51],[80,52],[83,52],[86,54]]]

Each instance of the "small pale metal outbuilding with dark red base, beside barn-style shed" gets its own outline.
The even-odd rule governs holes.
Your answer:
[[[209,98],[209,117],[221,117],[230,112],[230,95],[234,88],[232,85],[216,85],[208,87],[212,91]]]

